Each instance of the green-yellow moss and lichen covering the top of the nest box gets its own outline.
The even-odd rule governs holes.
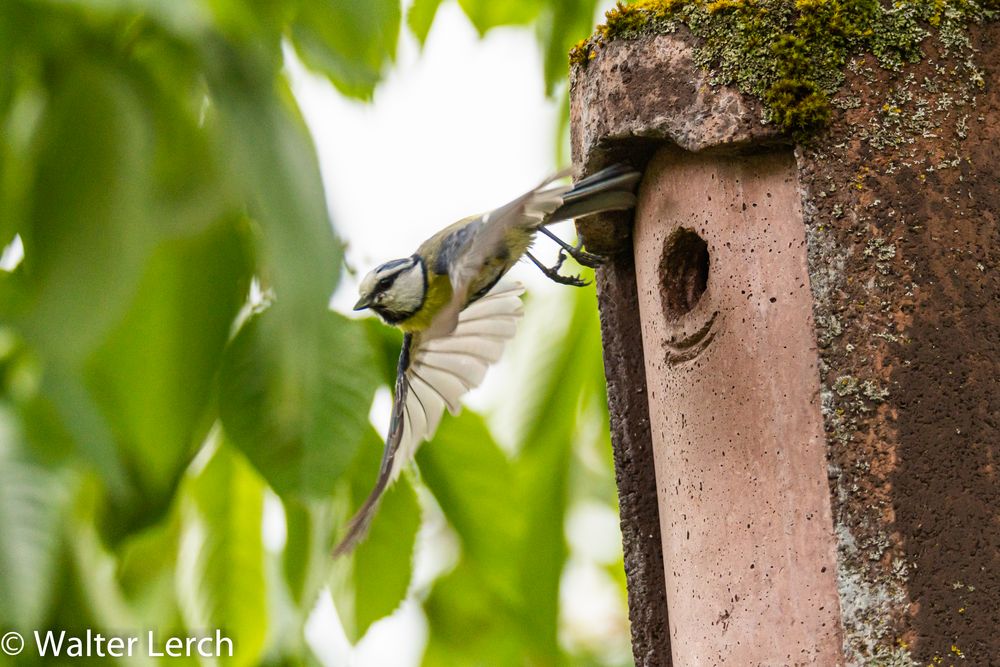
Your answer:
[[[945,50],[967,45],[969,25],[996,18],[1000,0],[637,0],[618,3],[606,22],[570,52],[585,67],[618,39],[672,33],[697,38],[695,62],[713,83],[761,99],[767,120],[798,140],[830,120],[830,95],[852,58],[871,54],[899,69],[923,57],[937,35]]]

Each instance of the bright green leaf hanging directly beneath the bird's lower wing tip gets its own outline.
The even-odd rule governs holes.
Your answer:
[[[382,442],[370,431],[356,473],[351,475],[354,508],[371,491]],[[334,599],[347,638],[357,642],[372,623],[391,614],[406,597],[413,571],[420,505],[413,485],[400,477],[386,491],[368,536],[337,563]]]

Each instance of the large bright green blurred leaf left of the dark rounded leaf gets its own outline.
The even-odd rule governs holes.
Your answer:
[[[234,222],[162,243],[125,316],[87,365],[91,393],[141,497],[115,508],[112,531],[166,509],[214,418],[212,380],[249,286],[246,244]]]

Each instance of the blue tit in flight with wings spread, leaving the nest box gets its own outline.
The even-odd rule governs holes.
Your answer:
[[[603,260],[546,226],[632,208],[640,173],[617,164],[575,185],[559,184],[568,175],[555,174],[500,208],[459,220],[409,257],[381,264],[361,281],[354,310],[371,309],[401,329],[403,346],[378,477],[335,555],[364,538],[382,494],[420,443],[434,435],[445,408],[452,414],[461,409],[459,399],[482,382],[514,336],[524,288],[501,278],[526,257],[550,279],[582,286],[579,277],[559,273],[566,254],[589,267]],[[555,266],[545,266],[530,252],[537,233],[560,246]]]

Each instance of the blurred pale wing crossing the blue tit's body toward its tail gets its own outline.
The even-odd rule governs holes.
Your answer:
[[[468,303],[469,290],[483,266],[503,250],[508,232],[519,227],[536,228],[563,205],[563,197],[572,186],[552,183],[569,175],[568,169],[553,174],[530,192],[483,216],[484,224],[469,242],[468,249],[448,269],[451,301],[424,331],[425,339],[447,336],[458,326],[459,313]]]

